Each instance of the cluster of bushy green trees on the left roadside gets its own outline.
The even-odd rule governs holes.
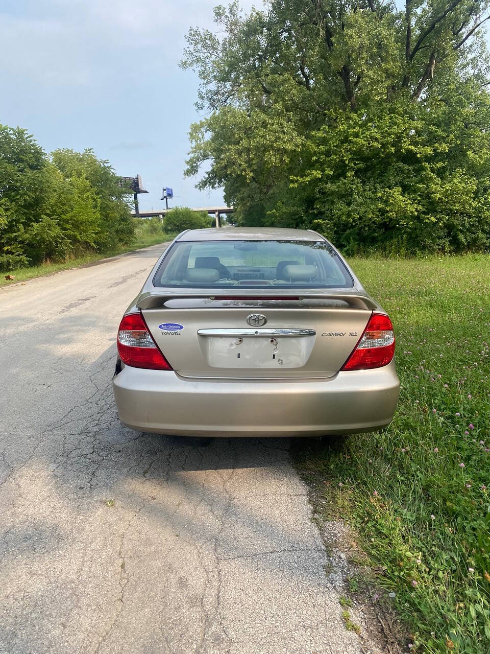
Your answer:
[[[118,178],[91,150],[48,157],[25,129],[0,125],[0,270],[128,243]]]

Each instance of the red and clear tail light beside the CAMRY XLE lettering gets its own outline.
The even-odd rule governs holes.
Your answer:
[[[391,320],[382,313],[373,313],[359,343],[341,370],[368,370],[387,366],[395,354],[395,333]]]

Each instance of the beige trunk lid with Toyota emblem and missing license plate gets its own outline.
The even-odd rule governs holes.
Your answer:
[[[138,305],[176,373],[229,379],[332,377],[374,308],[345,292],[277,300],[152,293]]]

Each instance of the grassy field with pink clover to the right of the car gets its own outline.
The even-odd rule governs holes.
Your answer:
[[[299,449],[316,519],[357,532],[414,652],[490,652],[490,256],[354,258],[391,316],[400,403],[382,432]]]

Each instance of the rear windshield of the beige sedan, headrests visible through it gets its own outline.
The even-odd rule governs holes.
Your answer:
[[[353,279],[325,241],[180,241],[163,258],[153,283],[351,288]]]

